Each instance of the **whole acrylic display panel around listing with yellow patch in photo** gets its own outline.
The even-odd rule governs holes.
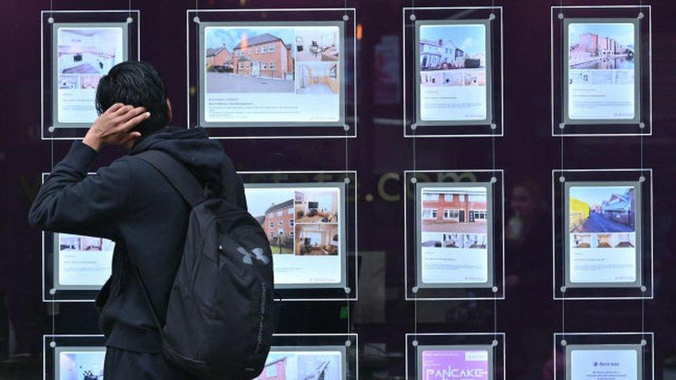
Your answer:
[[[555,298],[652,298],[651,174],[553,172]]]

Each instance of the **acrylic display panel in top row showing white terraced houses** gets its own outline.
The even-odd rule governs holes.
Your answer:
[[[403,17],[404,136],[501,136],[501,8],[404,8]]]

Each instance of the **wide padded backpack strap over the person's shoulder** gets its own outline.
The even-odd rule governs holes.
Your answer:
[[[159,150],[146,150],[134,156],[157,169],[191,207],[197,206],[206,199],[204,187],[199,184],[195,175],[170,154]]]

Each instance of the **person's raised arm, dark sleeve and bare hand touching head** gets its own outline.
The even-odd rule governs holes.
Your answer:
[[[84,140],[45,180],[28,213],[28,221],[43,230],[114,237],[108,221],[123,212],[132,181],[126,160],[118,160],[96,175],[87,171],[105,145],[129,146],[141,134],[132,129],[150,114],[143,107],[115,104],[101,114]]]

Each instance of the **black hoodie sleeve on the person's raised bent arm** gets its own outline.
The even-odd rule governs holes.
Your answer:
[[[127,206],[132,181],[125,159],[87,175],[98,153],[80,141],[44,181],[28,213],[42,230],[114,239],[114,215]]]

